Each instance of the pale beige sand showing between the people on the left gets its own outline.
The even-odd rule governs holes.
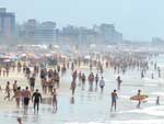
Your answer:
[[[25,89],[25,87],[28,87],[28,82],[27,79],[24,77],[24,74],[17,74],[16,71],[12,71],[10,72],[9,77],[0,77],[0,86],[2,88],[2,91],[0,91],[0,110],[1,111],[13,111],[16,110],[16,104],[15,104],[15,100],[13,99],[12,101],[8,101],[8,100],[3,100],[3,98],[7,95],[5,93],[5,84],[7,81],[10,81],[10,88],[11,88],[11,98],[13,95],[13,91],[12,91],[12,84],[14,82],[14,80],[17,80],[17,86],[21,86],[21,89]],[[69,90],[69,83],[66,83],[62,81],[61,79],[61,83],[60,83],[60,89],[58,89],[58,93],[62,94],[62,95],[68,95],[70,93]],[[39,89],[39,92],[42,92],[42,86],[40,86],[40,79],[39,77],[36,78],[36,83],[35,83],[35,88]],[[50,94],[43,94],[43,98],[49,98]],[[32,105],[32,103],[30,104]]]

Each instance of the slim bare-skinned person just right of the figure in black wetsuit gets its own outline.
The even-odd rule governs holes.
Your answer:
[[[57,112],[58,102],[57,102],[57,91],[54,89],[52,91],[52,113]]]

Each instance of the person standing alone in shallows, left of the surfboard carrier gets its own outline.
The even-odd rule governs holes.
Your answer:
[[[112,108],[110,108],[110,111],[113,112],[113,108],[115,108],[115,111],[116,111],[116,108],[117,108],[117,99],[118,99],[117,90],[114,90],[110,95],[112,95]]]

